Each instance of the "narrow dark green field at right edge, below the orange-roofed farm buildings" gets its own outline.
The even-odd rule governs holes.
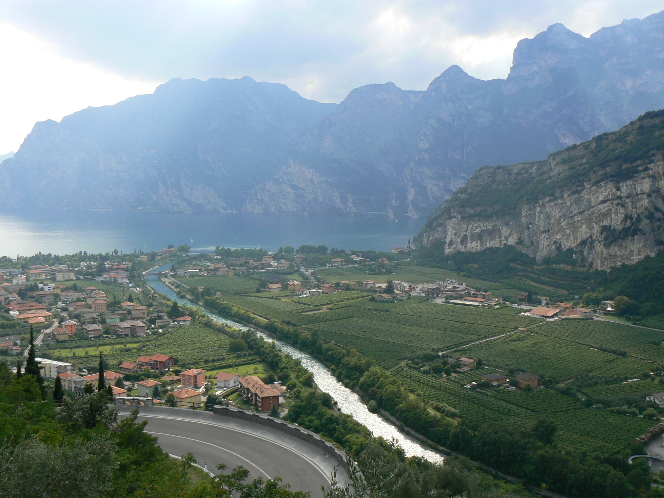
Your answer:
[[[664,362],[664,331],[599,320],[561,320],[533,329],[534,333],[591,347],[626,351],[627,356]]]

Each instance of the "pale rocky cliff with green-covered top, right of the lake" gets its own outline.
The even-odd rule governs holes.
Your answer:
[[[571,250],[596,269],[635,263],[664,248],[663,151],[658,112],[548,161],[483,168],[417,240],[446,254],[509,245],[539,262]]]

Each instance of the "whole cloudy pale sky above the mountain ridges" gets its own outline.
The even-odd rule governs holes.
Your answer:
[[[423,90],[452,64],[505,78],[517,41],[554,23],[588,36],[664,0],[0,0],[0,154],[37,121],[181,78],[282,82],[341,102],[392,81]]]

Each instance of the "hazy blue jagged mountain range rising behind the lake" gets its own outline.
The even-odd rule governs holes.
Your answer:
[[[0,203],[55,210],[427,216],[484,165],[545,159],[664,108],[664,12],[589,38],[552,25],[505,80],[459,66],[426,90],[338,106],[282,84],[171,80],[37,123],[0,165]]]

